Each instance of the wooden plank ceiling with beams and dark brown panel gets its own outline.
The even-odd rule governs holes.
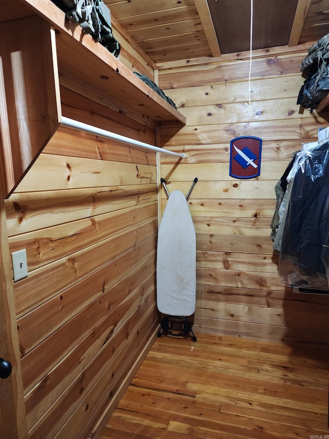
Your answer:
[[[248,50],[251,0],[103,0],[156,63]],[[329,0],[253,0],[253,49],[329,33]]]

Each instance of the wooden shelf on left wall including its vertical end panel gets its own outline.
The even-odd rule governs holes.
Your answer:
[[[154,128],[186,124],[51,0],[2,0],[1,7],[0,183],[7,197],[61,124],[60,85]]]

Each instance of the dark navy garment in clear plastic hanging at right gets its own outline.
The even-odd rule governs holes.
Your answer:
[[[284,224],[279,272],[288,286],[327,287],[329,143],[304,154],[295,174]]]

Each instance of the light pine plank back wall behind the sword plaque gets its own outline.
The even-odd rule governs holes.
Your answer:
[[[281,285],[269,238],[275,185],[291,154],[328,125],[316,113],[299,112],[305,52],[287,51],[255,54],[250,108],[249,59],[241,54],[222,62],[162,64],[159,85],[187,117],[176,135],[170,124],[161,126],[162,146],[187,157],[179,166],[164,157],[161,177],[170,192],[185,194],[198,178],[189,200],[197,236],[195,330],[321,344],[329,341],[329,296],[296,294]],[[230,140],[242,135],[263,139],[259,178],[229,177]],[[165,204],[162,194],[162,209]]]

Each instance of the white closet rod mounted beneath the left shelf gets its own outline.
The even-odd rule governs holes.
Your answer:
[[[73,128],[75,130],[84,131],[89,134],[96,134],[101,137],[105,137],[107,139],[115,140],[117,142],[124,143],[126,145],[137,146],[138,148],[148,149],[150,151],[160,152],[161,154],[168,155],[177,155],[182,159],[185,158],[185,153],[182,152],[179,154],[178,152],[169,151],[168,149],[158,148],[157,146],[149,145],[148,143],[139,142],[135,139],[131,139],[129,137],[121,136],[120,134],[112,133],[111,131],[102,130],[101,128],[93,127],[92,125],[83,124],[78,120],[69,119],[68,117],[62,117],[63,127]]]

